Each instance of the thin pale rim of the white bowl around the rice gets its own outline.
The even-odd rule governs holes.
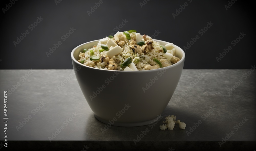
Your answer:
[[[167,41],[162,41],[162,40],[158,40],[158,39],[152,39],[156,42],[167,42]],[[178,61],[176,64],[174,65],[170,65],[170,66],[167,66],[167,67],[163,67],[163,68],[158,68],[158,69],[152,69],[152,70],[138,70],[138,71],[123,71],[123,70],[104,70],[104,69],[98,69],[98,68],[94,68],[94,67],[89,67],[89,66],[86,66],[86,65],[83,65],[81,64],[80,62],[78,62],[75,58],[74,58],[74,52],[77,50],[78,47],[82,46],[82,45],[85,45],[85,44],[88,44],[88,43],[92,43],[92,42],[99,42],[99,40],[93,40],[93,41],[89,41],[89,42],[86,42],[86,43],[83,43],[83,44],[80,44],[78,45],[77,47],[75,47],[72,52],[71,52],[71,58],[72,60],[77,63],[78,65],[81,65],[81,66],[84,66],[85,68],[91,68],[92,70],[102,70],[103,72],[134,72],[134,73],[137,73],[137,72],[154,72],[154,71],[162,71],[163,69],[169,69],[169,68],[174,68],[175,66],[178,66],[179,64],[181,64],[184,60],[185,60],[185,52],[182,48],[180,48],[179,46],[173,44],[174,46],[176,46],[177,48],[179,48],[181,51],[182,51],[182,54],[183,54],[183,57],[180,59],[180,61]],[[169,43],[169,42],[167,42]]]

